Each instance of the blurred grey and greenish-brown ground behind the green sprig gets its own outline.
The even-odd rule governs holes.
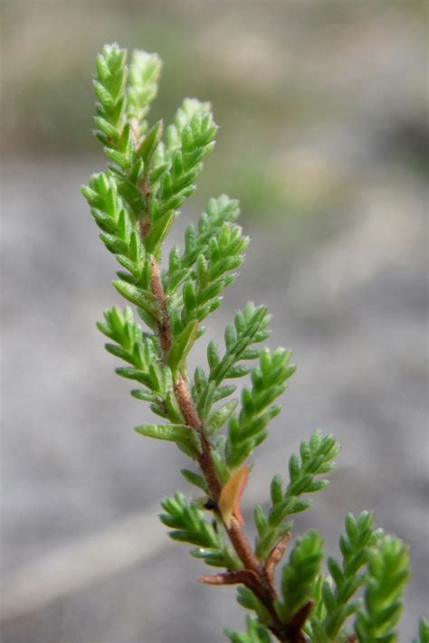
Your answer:
[[[90,77],[118,40],[165,61],[154,118],[185,95],[221,125],[180,241],[207,197],[243,204],[253,238],[193,362],[251,298],[299,368],[244,503],[268,497],[317,427],[343,446],[333,484],[298,516],[337,552],[347,511],[411,546],[400,641],[428,590],[425,3],[9,2],[2,5],[3,643],[217,643],[233,589],[157,524],[188,493],[174,447],[132,427],[145,404],[94,328],[114,262],[79,185],[103,163]],[[252,516],[247,515],[252,532]]]

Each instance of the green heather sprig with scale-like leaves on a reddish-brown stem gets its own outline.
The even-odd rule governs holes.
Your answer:
[[[113,285],[147,326],[141,330],[129,307],[106,310],[98,324],[110,340],[107,350],[127,364],[117,373],[138,383],[132,395],[162,419],[136,430],[175,442],[191,460],[191,468],[182,469],[184,478],[205,493],[205,504],[178,492],[167,498],[161,520],[171,538],[194,546],[192,555],[224,570],[200,582],[238,585],[238,601],[253,613],[245,632],[226,630],[234,643],[269,643],[272,637],[290,643],[395,641],[410,573],[408,550],[398,538],[375,530],[372,514],[347,516],[339,539],[342,558],[329,558],[328,572],[320,535],[302,535],[276,586],[291,515],[308,509],[311,495],[328,484],[323,476],[339,449],[331,435],[316,431],[301,443],[300,456],[289,461],[287,481],[272,479],[268,512],[254,509],[254,546],[244,534],[240,500],[248,459],[267,437],[295,367],[282,348],[261,348],[270,316],[265,307],[248,304],[226,326],[224,348],[208,344],[206,369],[187,374],[186,358],[204,334],[202,322],[234,282],[249,239],[236,224],[238,203],[222,195],[209,200],[196,227],[187,228],[183,250],[174,246],[163,263],[164,241],[195,191],[217,127],[210,105],[195,99],[184,100],[165,131],[162,121],[148,125],[160,68],[157,54],[140,51],[128,64],[126,50],[116,44],[97,57],[95,136],[109,165],[91,176],[82,193],[101,241],[120,264]],[[243,388],[241,401],[231,399],[231,381],[248,374],[251,385]],[[426,621],[419,637],[420,643],[429,640]]]

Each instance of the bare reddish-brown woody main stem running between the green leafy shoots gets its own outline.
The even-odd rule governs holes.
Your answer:
[[[164,288],[162,286],[160,270],[157,264],[157,260],[155,259],[152,260],[151,288],[152,292],[157,298],[158,306],[161,312],[161,321],[158,323],[157,333],[159,336],[159,342],[164,359],[167,360],[168,351],[171,347],[172,341],[171,324],[167,310],[167,299]],[[198,463],[207,481],[210,496],[214,500],[215,506],[217,506],[222,490],[221,482],[215,469],[215,462],[212,456],[212,448],[205,437],[205,433],[203,430],[203,421],[201,421],[201,418],[199,417],[195,409],[195,405],[186,382],[186,377],[183,374],[179,374],[176,378],[176,381],[174,383],[174,391],[177,403],[180,407],[180,411],[182,412],[187,426],[189,426],[192,430],[195,430],[199,436],[201,451],[197,456]],[[270,578],[266,574],[262,563],[260,563],[256,555],[253,553],[253,549],[243,532],[242,525],[238,522],[238,520],[234,518],[234,516],[232,518],[231,525],[225,525],[222,515],[219,511],[217,511],[217,514],[224,524],[224,528],[229,536],[231,544],[234,546],[235,552],[242,561],[244,569],[246,569],[248,572],[252,572],[253,574],[253,591],[270,613],[270,616],[272,618],[272,633],[284,643],[286,643],[287,641],[290,641],[291,643],[301,643],[302,641],[304,641],[305,643],[305,639],[301,637],[300,632],[297,633],[298,637],[293,637],[293,634],[288,630],[287,626],[281,623],[281,620],[279,619],[277,612],[274,609],[274,599],[276,598],[276,591],[272,582],[272,578]]]

